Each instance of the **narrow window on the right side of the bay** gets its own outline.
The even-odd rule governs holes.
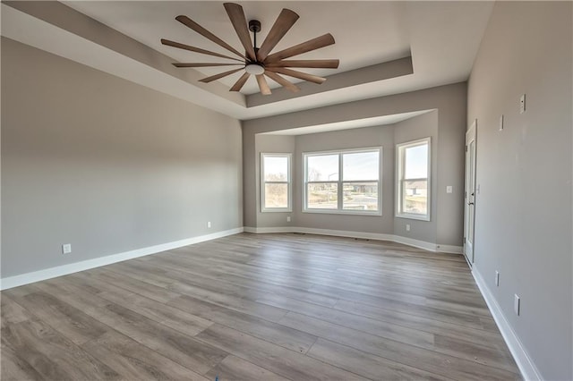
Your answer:
[[[396,148],[396,216],[430,221],[430,138]]]

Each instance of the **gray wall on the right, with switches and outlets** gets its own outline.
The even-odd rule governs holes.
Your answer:
[[[496,3],[468,88],[481,188],[475,271],[548,380],[573,378],[571,13],[570,2]]]

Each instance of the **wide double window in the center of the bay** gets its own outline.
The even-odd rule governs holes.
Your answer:
[[[380,152],[304,154],[304,212],[380,216]]]

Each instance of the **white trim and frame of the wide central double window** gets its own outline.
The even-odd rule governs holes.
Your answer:
[[[373,150],[378,150],[379,154],[378,154],[378,180],[376,181],[372,181],[372,180],[353,180],[353,181],[346,181],[346,182],[378,182],[378,210],[376,211],[368,211],[368,210],[364,210],[364,211],[360,211],[360,210],[349,210],[349,209],[343,209],[342,208],[342,198],[338,198],[338,209],[312,209],[312,208],[307,208],[306,207],[306,190],[307,190],[307,184],[308,182],[306,181],[307,176],[306,176],[306,171],[307,171],[307,165],[306,165],[306,158],[307,157],[312,157],[312,156],[321,156],[321,155],[329,155],[329,154],[338,154],[338,181],[336,181],[338,183],[338,194],[343,194],[344,192],[342,191],[342,187],[343,187],[343,183],[345,181],[342,180],[343,174],[342,174],[342,154],[348,154],[348,153],[360,153],[360,152],[372,152]],[[328,151],[312,151],[312,152],[303,152],[303,159],[302,159],[302,163],[303,163],[303,209],[302,212],[303,213],[311,213],[311,214],[321,214],[321,215],[350,215],[350,216],[382,216],[382,147],[367,147],[367,148],[345,148],[345,149],[333,149],[333,150],[328,150]],[[324,181],[324,182],[328,182],[329,181]],[[332,181],[333,182],[333,181]]]

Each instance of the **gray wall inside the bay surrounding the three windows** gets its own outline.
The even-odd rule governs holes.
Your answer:
[[[406,238],[436,243],[438,241],[437,212],[438,186],[432,182],[432,220],[419,221],[395,217],[395,168],[397,143],[422,138],[432,138],[432,174],[438,174],[438,111],[415,116],[406,121],[377,127],[350,129],[281,136],[258,134],[255,136],[257,152],[290,152],[293,154],[293,213],[257,212],[257,227],[300,226],[339,231],[362,233],[397,234]],[[381,147],[381,216],[352,216],[336,214],[303,213],[303,153],[320,152],[333,149]],[[260,156],[256,159],[255,180],[260,192]],[[257,206],[261,204],[257,193]],[[286,223],[286,216],[292,216],[291,223]],[[410,224],[410,231],[406,231]]]

